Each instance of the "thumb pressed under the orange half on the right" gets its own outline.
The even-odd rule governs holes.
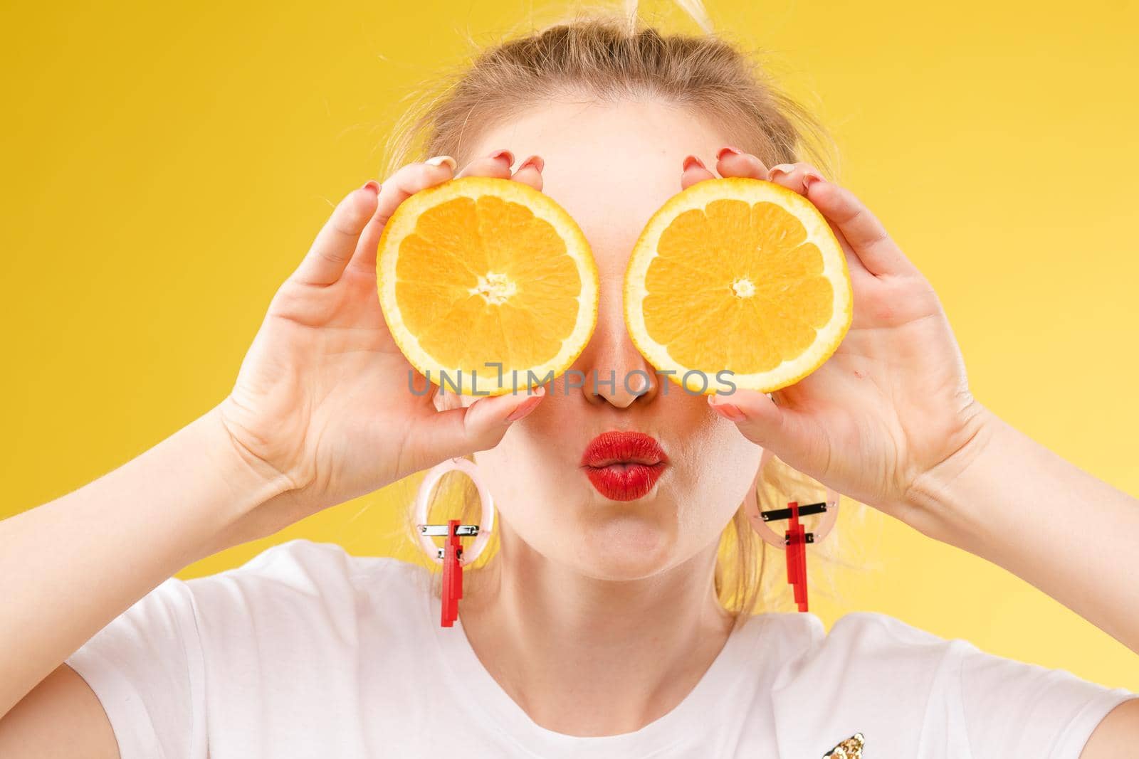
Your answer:
[[[822,451],[818,424],[802,411],[778,406],[765,393],[745,389],[722,398],[710,395],[708,405],[735,422],[748,440],[798,471],[818,471],[826,465],[826,461],[816,461]]]

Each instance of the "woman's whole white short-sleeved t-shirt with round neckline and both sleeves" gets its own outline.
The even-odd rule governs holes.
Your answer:
[[[1077,759],[1139,698],[875,612],[825,633],[759,614],[672,711],[632,733],[546,729],[439,624],[423,567],[296,539],[170,578],[67,659],[123,759],[786,757],[862,733],[867,759]],[[460,602],[461,603],[461,602]]]

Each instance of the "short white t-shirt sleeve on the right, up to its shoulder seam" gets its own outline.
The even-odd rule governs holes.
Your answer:
[[[1049,669],[1006,659],[958,642],[960,708],[975,759],[1079,759],[1112,709],[1139,698]]]

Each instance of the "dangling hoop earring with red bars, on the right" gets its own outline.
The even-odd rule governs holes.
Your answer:
[[[822,503],[809,503],[798,505],[797,501],[787,503],[786,509],[772,509],[760,511],[760,477],[763,468],[771,459],[771,452],[763,449],[760,459],[760,468],[755,472],[755,480],[747,500],[744,502],[744,513],[747,515],[747,523],[760,534],[767,543],[777,548],[782,548],[787,554],[787,583],[790,584],[795,594],[795,603],[800,611],[806,611],[806,544],[819,543],[827,537],[835,521],[838,519],[838,492],[827,488],[827,500]],[[826,514],[819,523],[818,533],[808,533],[798,518],[808,514]],[[768,526],[768,522],[789,519],[787,530],[779,535]]]

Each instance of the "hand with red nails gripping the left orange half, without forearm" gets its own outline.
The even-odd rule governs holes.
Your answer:
[[[540,159],[511,175],[513,164],[500,150],[457,176],[514,179],[541,190]],[[437,388],[425,391],[425,378],[384,321],[376,283],[384,224],[400,203],[453,172],[454,160],[441,157],[350,192],[273,297],[232,391],[216,409],[239,454],[277,482],[289,503],[255,520],[256,535],[245,538],[448,457],[493,447],[539,403],[540,393],[508,394],[436,411]]]

